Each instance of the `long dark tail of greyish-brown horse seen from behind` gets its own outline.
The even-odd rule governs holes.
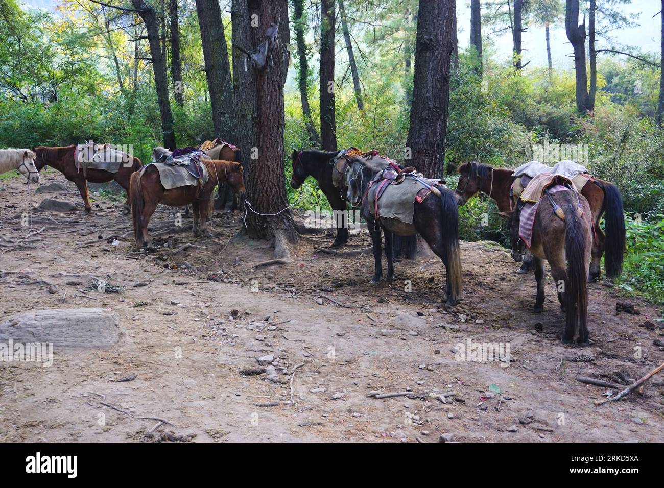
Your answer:
[[[566,298],[566,326],[573,331],[586,329],[588,317],[588,263],[584,222],[576,212],[576,204],[565,204],[565,256],[568,265]],[[576,327],[578,325],[578,329]]]

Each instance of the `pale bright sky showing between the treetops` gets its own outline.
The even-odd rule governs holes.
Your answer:
[[[26,5],[54,11],[57,0],[23,0]],[[437,1],[437,0],[428,0]],[[112,2],[110,2],[112,3]],[[639,17],[635,20],[638,27],[614,31],[612,33],[616,40],[616,45],[626,45],[637,48],[643,52],[656,52],[659,54],[661,48],[661,18],[659,15],[653,18],[661,9],[659,0],[631,0],[630,5],[622,5],[622,10],[626,14],[636,13]],[[459,47],[465,48],[469,43],[470,37],[470,8],[469,0],[457,0],[457,26],[459,29]],[[487,36],[490,29],[483,29],[483,34]],[[493,35],[495,42],[495,55],[499,60],[506,60],[511,57],[512,39],[509,31],[501,36]],[[565,28],[562,23],[551,29],[551,50],[554,66],[571,68],[572,58],[568,54],[572,52],[565,35]],[[523,52],[524,63],[531,61],[529,66],[546,66],[546,41],[544,36],[544,27],[530,27],[523,33],[523,46],[527,48]],[[604,40],[598,41],[597,48],[611,48],[606,45]],[[610,54],[602,54],[610,56]],[[624,56],[620,56],[624,57]],[[528,67],[526,69],[528,69]]]

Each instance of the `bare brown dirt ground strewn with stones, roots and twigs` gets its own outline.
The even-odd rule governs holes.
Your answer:
[[[663,373],[602,406],[594,401],[609,388],[576,380],[616,383],[664,361],[653,344],[664,339],[661,312],[614,288],[590,285],[592,346],[564,346],[550,278],[544,313],[535,314],[535,278],[515,274],[518,265],[488,243],[462,242],[463,294],[446,309],[444,268],[431,257],[398,262],[396,282],[372,286],[371,254],[321,252],[333,240],[321,232],[303,236],[290,263],[254,268],[274,255],[265,242],[233,238],[239,212],[217,214],[210,238],[179,228],[154,238],[168,247],[135,254],[119,199],[96,198],[86,217],[35,210],[47,197],[80,203],[60,173],[42,175],[42,185],[53,181],[66,190],[0,181],[0,270],[25,273],[0,275],[0,321],[32,309],[105,307],[120,315],[122,337],[106,349],[56,348],[51,367],[0,363],[2,441],[140,442],[169,432],[171,440],[195,434],[194,442],[664,440]],[[31,226],[21,226],[24,212]],[[160,207],[151,233],[172,221]],[[7,244],[21,236],[33,247]],[[188,242],[203,248],[169,254]],[[343,250],[370,244],[366,230],[350,242]],[[27,276],[57,291],[20,284]],[[121,289],[89,289],[93,278]],[[641,314],[616,313],[616,301]],[[509,365],[457,361],[467,340],[509,345]],[[266,355],[276,366],[270,379],[270,370],[248,374]],[[376,391],[412,395],[367,396]],[[446,403],[436,398],[447,392]]]

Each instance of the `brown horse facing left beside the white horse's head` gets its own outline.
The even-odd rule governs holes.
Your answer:
[[[129,195],[129,178],[134,171],[138,171],[141,167],[141,160],[137,157],[129,156],[130,159],[127,163],[121,163],[118,173],[110,173],[104,169],[87,168],[84,171],[76,167],[74,161],[74,153],[76,145],[60,146],[60,147],[46,147],[38,146],[33,149],[37,155],[35,159],[35,166],[37,170],[41,170],[44,166],[50,166],[57,169],[69,181],[73,181],[76,188],[83,197],[85,204],[85,214],[92,212],[92,205],[90,205],[90,193],[88,193],[88,181],[92,183],[107,183],[108,181],[115,180]],[[122,214],[129,213],[129,199],[125,201],[122,206]]]

